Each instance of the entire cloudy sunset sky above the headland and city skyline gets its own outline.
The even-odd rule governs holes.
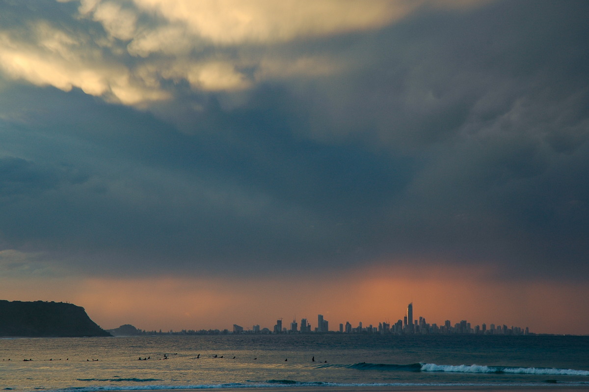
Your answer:
[[[0,298],[589,334],[587,15],[0,0]]]

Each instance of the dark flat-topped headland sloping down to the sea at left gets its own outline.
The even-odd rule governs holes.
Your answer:
[[[0,300],[0,336],[112,336],[88,317],[82,307],[64,302]]]

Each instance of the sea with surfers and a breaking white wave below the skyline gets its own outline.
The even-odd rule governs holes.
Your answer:
[[[589,337],[243,334],[0,339],[0,389],[15,391],[547,385],[589,390]]]

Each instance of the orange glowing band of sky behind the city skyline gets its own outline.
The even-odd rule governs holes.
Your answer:
[[[103,328],[133,324],[143,330],[208,330],[238,324],[270,328],[283,318],[290,327],[295,317],[307,318],[313,328],[317,314],[330,330],[349,321],[353,327],[391,324],[413,302],[413,317],[429,324],[452,325],[466,319],[474,325],[494,323],[530,327],[531,332],[589,334],[583,309],[587,289],[550,282],[497,282],[489,271],[432,267],[419,276],[411,266],[372,266],[347,274],[314,278],[89,278],[12,282],[4,286],[11,300],[63,301],[84,307]],[[585,292],[584,292],[585,291]],[[561,303],[568,302],[565,309]],[[567,320],[567,323],[562,323]]]

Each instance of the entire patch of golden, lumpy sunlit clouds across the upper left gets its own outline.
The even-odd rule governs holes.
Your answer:
[[[167,81],[187,81],[196,91],[239,91],[266,77],[332,73],[339,67],[329,64],[325,56],[303,53],[286,60],[263,54],[266,50],[260,48],[382,28],[428,4],[82,0],[78,15],[62,15],[69,20],[19,15],[24,18],[21,30],[32,34],[0,31],[0,59],[11,78],[64,91],[77,87],[107,101],[145,106],[173,97],[174,91],[162,85]],[[473,4],[462,2],[460,6]],[[64,28],[77,24],[78,18],[87,19],[94,31]],[[259,54],[236,54],[238,45],[250,46]],[[254,70],[256,77],[248,70]]]

